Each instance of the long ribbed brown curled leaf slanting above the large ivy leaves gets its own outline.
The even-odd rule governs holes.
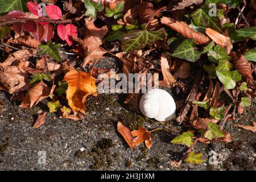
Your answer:
[[[166,26],[171,27],[176,32],[179,32],[185,38],[194,39],[197,44],[205,45],[210,42],[208,36],[189,28],[187,23],[185,22],[175,22],[175,23],[167,23],[172,22],[173,20],[168,20],[169,18],[163,17],[161,19],[162,24],[166,24]]]

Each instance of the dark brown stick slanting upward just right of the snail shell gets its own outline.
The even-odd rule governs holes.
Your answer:
[[[183,106],[182,110],[180,111],[180,114],[177,117],[177,122],[179,122],[179,125],[185,120],[185,117],[188,113],[189,108],[191,107],[192,101],[195,100],[197,89],[200,85],[200,82],[204,76],[203,69],[199,69],[199,71],[196,74],[195,81],[193,83],[191,92],[188,94],[188,97],[185,100],[185,105]]]

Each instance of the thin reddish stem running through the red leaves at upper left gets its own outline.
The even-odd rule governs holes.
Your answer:
[[[12,19],[12,20],[6,20],[5,22],[1,22],[0,26],[5,25],[5,24],[13,24],[16,22],[26,22],[27,20],[34,20],[35,22],[49,22],[49,23],[56,23],[56,24],[61,24],[61,23],[71,23],[71,19],[65,19],[65,20],[52,20],[52,19],[36,19],[36,18],[17,18],[17,19]]]

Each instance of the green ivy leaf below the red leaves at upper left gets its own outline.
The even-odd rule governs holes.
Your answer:
[[[48,53],[48,55],[52,56],[53,59],[61,61],[58,50],[60,48],[60,44],[53,44],[51,41],[49,41],[47,44],[41,44],[38,47],[42,49],[41,53],[43,55]]]

